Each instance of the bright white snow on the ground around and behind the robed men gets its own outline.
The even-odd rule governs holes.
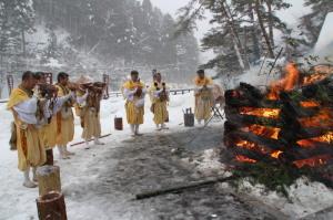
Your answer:
[[[185,129],[183,126],[182,109],[192,107],[194,104],[194,97],[192,93],[184,95],[171,96],[169,105],[170,123],[168,124],[170,130]],[[142,133],[152,133],[155,127],[152,121],[152,113],[150,112],[150,102],[147,97],[145,104],[145,123],[142,126]],[[124,123],[124,130],[115,132],[113,128],[113,118],[115,116],[122,116]],[[38,197],[38,189],[27,189],[22,187],[22,174],[17,169],[17,151],[10,151],[8,140],[10,137],[10,123],[12,122],[12,115],[6,111],[6,104],[0,104],[0,220],[2,219],[37,219],[36,198]],[[131,138],[130,127],[125,123],[124,116],[124,101],[122,97],[111,97],[108,101],[102,102],[101,107],[101,124],[102,134],[112,135],[102,139],[108,143],[108,146],[117,147],[122,140]],[[79,118],[75,117],[75,137],[73,143],[80,142],[81,127]],[[163,133],[163,132],[162,132]],[[81,181],[93,181],[98,174],[87,172],[91,163],[102,155],[107,148],[94,147],[84,150],[84,146],[80,145],[70,148],[75,153],[70,160],[58,160],[58,150],[54,149],[54,159],[58,160],[57,165],[61,168],[61,182],[64,193],[67,189],[73,189],[79,186]],[[103,166],[103,161],[99,161]],[[87,192],[93,193],[93,192]],[[111,201],[112,202],[112,201]],[[69,219],[94,219],[95,211],[99,209],[99,201],[95,203],[84,203],[84,201],[77,202],[65,198]],[[102,218],[108,219],[103,213],[100,213]],[[128,218],[125,218],[128,219]]]

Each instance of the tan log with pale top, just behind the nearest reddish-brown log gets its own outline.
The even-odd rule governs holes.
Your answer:
[[[42,166],[37,169],[39,196],[50,191],[61,192],[60,168],[58,166]]]

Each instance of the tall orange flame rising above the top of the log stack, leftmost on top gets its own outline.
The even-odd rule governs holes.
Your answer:
[[[295,63],[289,63],[285,66],[285,76],[278,82],[273,82],[271,85],[271,92],[268,94],[268,99],[276,101],[279,99],[279,94],[282,91],[291,91],[294,88],[295,84],[300,78],[300,71],[297,70]]]

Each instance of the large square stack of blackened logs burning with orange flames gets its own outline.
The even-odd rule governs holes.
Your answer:
[[[265,92],[246,83],[225,92],[224,144],[234,161],[296,168],[333,161],[333,67],[285,70]]]

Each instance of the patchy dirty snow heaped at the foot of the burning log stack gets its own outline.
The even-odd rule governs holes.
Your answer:
[[[229,177],[231,172],[228,167],[220,161],[220,153],[218,149],[204,150],[201,156],[194,158],[185,158],[184,163],[195,166],[195,170],[206,177]],[[219,186],[224,191],[233,191],[234,189],[226,182]],[[333,205],[333,190],[326,188],[323,184],[311,182],[306,178],[300,178],[287,189],[289,200],[273,191],[268,191],[262,185],[251,185],[244,179],[240,185],[240,192],[245,193],[252,199],[263,202],[265,206],[284,213],[289,219],[300,219],[309,214],[319,212]]]

